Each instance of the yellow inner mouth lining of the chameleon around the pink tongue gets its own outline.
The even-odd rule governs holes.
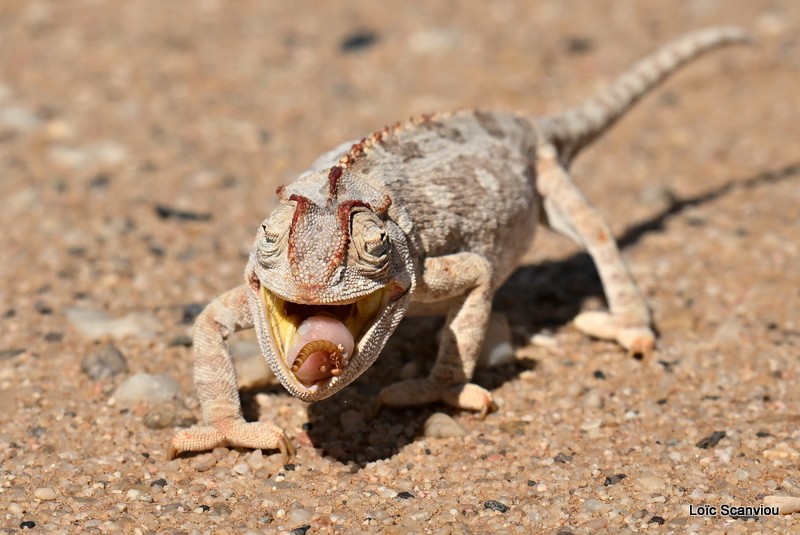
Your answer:
[[[298,327],[311,316],[330,316],[341,321],[353,335],[355,341],[353,354],[356,354],[361,337],[386,305],[388,291],[380,288],[345,305],[301,305],[281,299],[263,286],[261,295],[264,300],[264,315],[272,331],[272,338],[288,370],[292,363],[287,362],[286,354],[297,336]]]

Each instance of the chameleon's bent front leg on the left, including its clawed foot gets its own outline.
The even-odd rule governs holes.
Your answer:
[[[236,371],[228,350],[228,337],[253,327],[243,284],[212,301],[194,326],[194,383],[205,425],[179,431],[168,452],[174,458],[185,451],[206,451],[219,446],[279,449],[284,458],[294,448],[283,431],[266,422],[246,422],[242,416]]]

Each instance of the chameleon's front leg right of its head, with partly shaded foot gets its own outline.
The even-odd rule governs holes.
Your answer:
[[[415,299],[452,301],[436,363],[425,379],[400,381],[384,388],[378,407],[406,407],[443,401],[486,415],[492,395],[471,383],[492,308],[492,271],[475,253],[457,253],[425,260]]]

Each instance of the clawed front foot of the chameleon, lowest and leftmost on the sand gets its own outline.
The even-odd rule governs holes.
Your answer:
[[[174,459],[186,451],[207,451],[221,446],[278,449],[283,454],[284,462],[295,455],[294,446],[279,427],[266,422],[242,420],[216,426],[196,425],[179,431],[172,437],[167,456]]]

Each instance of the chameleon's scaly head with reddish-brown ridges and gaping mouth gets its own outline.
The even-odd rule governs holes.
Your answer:
[[[264,357],[305,401],[332,395],[375,361],[414,282],[389,197],[340,167],[326,172],[327,181],[315,173],[278,189],[245,275]]]

